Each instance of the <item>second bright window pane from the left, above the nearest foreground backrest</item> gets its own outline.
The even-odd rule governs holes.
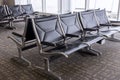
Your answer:
[[[58,0],[46,0],[46,12],[58,13]]]

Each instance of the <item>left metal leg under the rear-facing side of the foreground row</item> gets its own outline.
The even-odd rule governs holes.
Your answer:
[[[22,53],[21,53],[21,48],[18,48],[18,57],[13,57],[11,60],[23,65],[23,66],[27,66],[27,67],[30,67],[31,66],[31,62],[28,61],[27,59],[25,59],[23,56],[22,56]]]

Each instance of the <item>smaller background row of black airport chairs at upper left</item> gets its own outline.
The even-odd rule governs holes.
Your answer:
[[[8,24],[7,28],[13,29],[13,22],[23,21],[28,15],[35,15],[32,5],[0,6],[0,24]]]

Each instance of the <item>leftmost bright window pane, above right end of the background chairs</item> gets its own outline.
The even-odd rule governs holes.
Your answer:
[[[42,0],[31,0],[30,2],[34,11],[42,12]]]

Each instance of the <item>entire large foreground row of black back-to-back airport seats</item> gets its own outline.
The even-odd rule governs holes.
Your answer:
[[[58,16],[28,18],[24,34],[13,32],[13,36],[9,38],[17,44],[19,51],[19,57],[13,60],[21,59],[31,66],[32,64],[23,57],[21,51],[37,46],[38,53],[45,60],[45,66],[44,68],[34,67],[55,80],[61,80],[60,76],[50,70],[51,56],[59,55],[69,58],[70,54],[81,49],[101,55],[101,52],[92,49],[91,45],[102,43],[119,31],[119,25],[112,24],[108,20],[105,10],[90,10]]]

